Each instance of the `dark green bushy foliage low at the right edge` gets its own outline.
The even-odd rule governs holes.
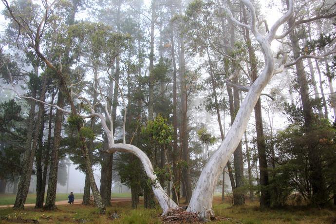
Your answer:
[[[288,196],[293,192],[299,192],[310,203],[327,203],[335,186],[336,170],[335,129],[330,123],[325,119],[316,120],[308,130],[302,123],[294,123],[277,134],[273,145],[278,153],[278,166],[272,170],[272,205],[286,205]],[[311,158],[313,150],[318,151],[315,159],[323,164],[322,167],[314,164]],[[322,185],[330,187],[323,190],[324,195],[315,199],[312,198],[312,177],[317,171],[324,177]]]

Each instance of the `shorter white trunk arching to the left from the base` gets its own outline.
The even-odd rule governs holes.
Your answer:
[[[165,190],[161,187],[158,178],[154,174],[153,166],[151,165],[151,162],[145,152],[133,145],[122,143],[111,144],[109,146],[109,150],[107,150],[107,152],[110,153],[115,151],[130,152],[141,160],[141,163],[144,166],[148,178],[152,181],[152,183],[155,183],[152,185],[152,190],[160,206],[163,209],[163,215],[165,215],[169,210],[179,207],[175,204],[173,200],[168,197]]]

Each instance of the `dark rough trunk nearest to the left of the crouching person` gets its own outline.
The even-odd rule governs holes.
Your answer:
[[[61,90],[58,92],[57,106],[62,108],[64,105],[64,94]],[[54,139],[53,148],[51,154],[51,164],[49,171],[49,181],[47,189],[47,199],[44,208],[47,210],[53,210],[56,208],[56,187],[57,187],[57,173],[58,173],[58,153],[59,153],[59,143],[61,140],[61,129],[62,129],[62,119],[63,113],[60,110],[56,111],[55,127],[54,127]]]

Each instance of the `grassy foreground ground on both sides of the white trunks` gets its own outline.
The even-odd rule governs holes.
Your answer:
[[[161,224],[161,209],[144,209],[142,202],[137,209],[131,209],[131,201],[112,201],[106,215],[100,215],[92,206],[58,205],[56,211],[45,211],[26,207],[24,210],[0,208],[0,223],[40,224]],[[261,210],[258,202],[247,201],[246,205],[232,207],[230,202],[221,203],[221,197],[214,198],[214,212],[227,221],[214,224],[335,224],[336,209],[312,207],[286,207]],[[120,216],[120,217],[119,217]]]

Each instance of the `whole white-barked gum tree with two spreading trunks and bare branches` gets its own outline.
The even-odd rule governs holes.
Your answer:
[[[6,2],[6,1],[5,1]],[[283,38],[285,37],[288,32],[285,32],[281,36],[276,36],[276,32],[279,29],[279,27],[285,23],[293,14],[293,0],[289,0],[289,6],[287,12],[278,19],[274,25],[271,27],[269,32],[262,36],[259,32],[259,23],[256,16],[255,8],[253,4],[249,0],[241,0],[241,3],[245,5],[248,8],[248,11],[250,13],[250,23],[244,24],[235,19],[232,16],[232,13],[229,9],[226,7],[223,7],[224,11],[226,12],[226,15],[230,22],[247,28],[251,30],[253,33],[254,38],[259,43],[261,47],[261,51],[263,53],[264,57],[264,68],[261,72],[261,74],[258,76],[256,81],[249,87],[248,93],[243,100],[243,103],[237,112],[236,118],[231,126],[231,129],[227,133],[226,137],[222,141],[220,147],[216,150],[216,152],[211,156],[207,164],[205,165],[205,168],[202,170],[202,173],[199,177],[199,180],[197,182],[197,185],[193,191],[189,206],[187,208],[187,211],[198,213],[199,217],[205,220],[208,220],[210,216],[213,215],[212,210],[212,199],[213,199],[213,193],[214,189],[216,187],[217,181],[219,179],[219,176],[222,174],[223,168],[228,162],[230,156],[234,152],[234,150],[237,148],[239,142],[242,139],[243,133],[247,127],[248,120],[251,116],[251,113],[253,112],[254,106],[257,103],[257,100],[259,96],[261,95],[262,90],[265,88],[265,86],[270,82],[272,76],[274,74],[280,73],[283,71],[284,68],[294,65],[298,59],[302,59],[304,57],[310,57],[310,58],[321,58],[323,56],[301,56],[296,61],[288,63],[288,64],[282,64],[278,69],[275,69],[275,62],[273,59],[273,52],[271,50],[271,43],[276,38]],[[8,6],[9,8],[9,6]],[[34,50],[37,53],[37,56],[42,59],[46,63],[48,67],[50,67],[53,70],[57,70],[57,68],[49,62],[43,54],[39,51],[39,48],[34,48]],[[335,53],[332,52],[332,53]],[[332,53],[328,53],[326,55],[330,55]],[[324,56],[326,56],[324,55]],[[60,79],[65,82],[65,79],[61,76],[61,73],[57,73],[59,75]],[[111,77],[111,76],[110,76]],[[98,82],[98,77],[94,77],[96,81]],[[112,77],[111,77],[112,78]],[[99,83],[99,82],[98,82]],[[64,83],[66,86],[66,83]],[[102,85],[102,84],[101,84]],[[90,113],[87,114],[77,114],[78,116],[81,116],[83,118],[92,118],[97,117],[99,118],[101,125],[108,137],[108,144],[109,149],[107,152],[115,152],[115,151],[122,151],[122,152],[129,152],[137,156],[140,161],[142,162],[142,165],[146,171],[147,176],[152,182],[152,190],[155,194],[156,199],[158,200],[160,206],[163,209],[163,214],[167,214],[168,211],[172,209],[178,209],[179,206],[175,204],[166,194],[164,189],[161,187],[160,183],[158,182],[158,178],[154,173],[153,166],[149,160],[149,157],[139,148],[135,147],[131,144],[126,144],[126,138],[125,138],[125,122],[126,122],[126,104],[124,101],[124,97],[122,95],[121,88],[119,87],[119,91],[121,93],[121,96],[123,98],[123,104],[124,104],[124,125],[123,125],[123,143],[115,143],[114,142],[114,135],[113,135],[113,122],[112,122],[112,116],[109,112],[107,99],[105,98],[104,94],[102,93],[103,88],[101,85],[98,85],[97,88],[95,88],[96,93],[99,94],[99,100],[104,105],[104,113],[103,112],[96,112],[94,110],[94,105],[91,104],[91,101],[87,98],[85,98],[82,95],[78,95],[75,93],[70,93],[71,98],[73,98],[71,101],[74,102],[75,100],[82,100],[86,102],[87,106],[90,108]],[[13,85],[11,90],[15,90],[15,86]],[[22,96],[16,91],[16,93],[19,95],[19,97],[22,98],[31,98]],[[31,98],[34,99],[34,98]],[[34,99],[38,102],[41,102],[40,100]],[[68,111],[63,108],[58,107],[54,104],[48,104],[46,102],[42,102],[45,105],[56,107],[57,110],[61,110],[65,114],[73,114],[73,111]],[[74,107],[72,105],[72,107]],[[107,124],[110,124],[110,127],[108,127]]]

